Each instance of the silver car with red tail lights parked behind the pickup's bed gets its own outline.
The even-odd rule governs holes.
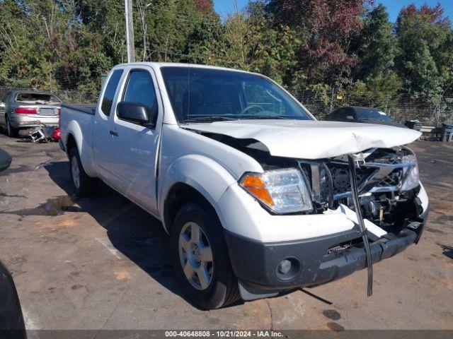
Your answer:
[[[52,93],[12,90],[0,99],[0,125],[8,136],[16,136],[19,129],[58,126],[62,100]]]

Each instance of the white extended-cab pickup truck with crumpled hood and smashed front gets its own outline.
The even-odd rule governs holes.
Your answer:
[[[256,73],[115,66],[97,105],[62,105],[61,128],[77,194],[101,179],[161,220],[203,309],[362,268],[370,295],[372,263],[418,242],[428,215],[404,146],[419,132],[316,121]]]

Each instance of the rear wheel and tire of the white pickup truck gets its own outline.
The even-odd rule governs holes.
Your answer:
[[[96,178],[88,177],[80,161],[79,151],[76,147],[69,150],[69,174],[76,196],[83,198],[91,196],[98,186]]]

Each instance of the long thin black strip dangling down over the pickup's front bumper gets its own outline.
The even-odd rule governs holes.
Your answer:
[[[355,172],[355,168],[360,167],[360,163],[362,163],[363,161],[364,160],[362,159],[362,157],[360,157],[360,155],[348,155],[349,174],[352,188],[352,201],[354,202],[355,214],[357,215],[357,220],[359,220],[360,232],[362,232],[362,239],[363,243],[365,244],[365,252],[367,254],[367,296],[371,297],[373,295],[373,262],[371,257],[371,250],[369,249],[367,227],[365,227],[365,222],[363,221],[362,212],[360,210],[359,189],[357,188],[357,173]]]

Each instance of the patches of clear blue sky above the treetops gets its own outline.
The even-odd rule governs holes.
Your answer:
[[[214,0],[214,8],[220,16],[226,16],[226,13],[234,11],[234,4],[237,2],[239,9],[246,6],[248,0]],[[453,20],[453,1],[452,0],[374,0],[376,4],[384,4],[389,11],[390,21],[395,22],[399,11],[403,6],[415,4],[420,7],[422,4],[435,6],[440,2],[445,10],[445,15]]]

